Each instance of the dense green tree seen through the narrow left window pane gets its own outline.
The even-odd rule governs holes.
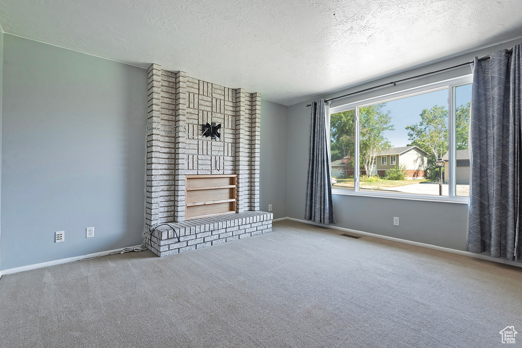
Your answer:
[[[330,116],[331,161],[341,160],[348,155],[354,157],[355,111],[338,112]]]

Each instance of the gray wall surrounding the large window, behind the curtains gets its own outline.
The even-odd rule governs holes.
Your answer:
[[[465,63],[471,61],[476,55],[483,56],[497,50],[509,48],[514,44],[520,43],[520,41],[521,40],[514,40],[499,44],[470,54],[454,57],[444,62],[431,64],[405,73],[399,73],[363,85],[354,86],[336,93],[324,95],[321,98],[337,97],[338,95],[381,85],[390,81]],[[470,72],[471,69],[468,66],[454,69],[448,73],[431,76],[422,81],[413,80],[406,83],[399,83],[396,87],[390,86],[384,89],[359,94],[357,97],[337,100],[332,106],[371,98],[384,93],[392,93],[418,86],[419,83],[422,85],[440,79],[469,74]],[[291,124],[292,127],[288,128],[287,212],[289,217],[296,219],[304,218],[308,134],[310,127],[310,108],[306,107],[306,104],[310,102],[311,101],[302,102],[289,106],[288,108],[288,124]],[[334,204],[338,226],[458,250],[465,250],[466,248],[467,205],[341,195],[334,195]],[[393,226],[393,217],[400,218],[400,226]]]

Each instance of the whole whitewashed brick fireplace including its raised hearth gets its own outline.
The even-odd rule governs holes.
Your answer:
[[[272,214],[259,211],[259,93],[148,69],[147,242],[158,256],[271,231]],[[221,136],[202,125],[221,124]],[[236,174],[236,213],[185,221],[186,175]]]

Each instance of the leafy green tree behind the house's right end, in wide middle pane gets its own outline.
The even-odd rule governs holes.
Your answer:
[[[432,167],[448,150],[448,111],[435,105],[422,110],[420,116],[421,122],[406,127],[408,140],[430,154],[428,166]]]

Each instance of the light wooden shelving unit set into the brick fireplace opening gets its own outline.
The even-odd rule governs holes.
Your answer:
[[[186,175],[185,178],[185,220],[236,212],[237,175]]]

